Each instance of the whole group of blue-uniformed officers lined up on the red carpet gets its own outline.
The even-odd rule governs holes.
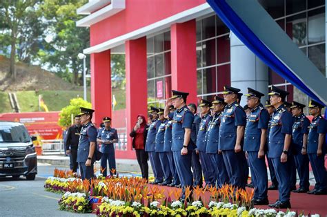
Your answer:
[[[324,105],[311,100],[310,123],[303,113],[303,104],[286,105],[288,92],[272,86],[268,93],[270,100],[263,105],[260,100],[264,94],[248,88],[247,115],[239,105],[240,90],[230,86],[224,90],[224,98],[216,96],[213,102],[201,100],[200,119],[192,113],[196,108],[186,104],[188,93],[180,91],[172,91],[164,109],[151,107],[146,151],[155,174],[152,184],[180,183],[183,188],[201,185],[195,183],[199,182],[199,174],[193,176],[192,171],[202,171],[208,187],[228,183],[244,189],[250,167],[255,187],[253,202],[268,205],[267,156],[271,188],[278,186],[279,190],[279,199],[270,207],[289,208],[291,190],[327,194],[324,166],[327,122],[321,117]],[[316,180],[312,191],[308,182],[309,161]],[[195,167],[197,162],[200,169]],[[298,189],[295,189],[295,169],[300,179]]]

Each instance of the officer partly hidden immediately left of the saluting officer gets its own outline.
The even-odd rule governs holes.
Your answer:
[[[169,107],[169,113],[175,112],[174,106]],[[172,157],[172,121],[168,120],[166,123],[166,130],[164,135],[164,151],[166,152],[170,171],[172,172],[172,183],[167,185],[169,187],[181,187],[181,182],[179,182],[179,177],[177,174],[174,158]]]

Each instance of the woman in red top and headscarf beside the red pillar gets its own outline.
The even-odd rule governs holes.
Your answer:
[[[135,124],[130,137],[132,140],[132,147],[135,149],[137,155],[137,162],[141,169],[142,178],[148,180],[149,166],[148,166],[148,153],[146,148],[146,137],[148,135],[148,125],[146,124],[146,117],[144,115],[137,115],[137,123]]]

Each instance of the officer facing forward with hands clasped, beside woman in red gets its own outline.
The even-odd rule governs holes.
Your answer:
[[[116,173],[116,159],[115,159],[115,147],[114,143],[118,142],[118,133],[116,129],[110,127],[111,118],[103,117],[104,127],[99,129],[97,135],[97,142],[101,143],[100,152],[101,156],[101,170],[104,177],[107,176],[107,160],[109,163],[109,171],[112,176]]]

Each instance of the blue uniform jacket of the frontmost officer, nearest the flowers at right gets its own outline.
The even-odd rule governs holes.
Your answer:
[[[280,158],[284,151],[285,135],[292,135],[293,117],[284,104],[279,106],[271,117],[268,142],[269,158]]]

